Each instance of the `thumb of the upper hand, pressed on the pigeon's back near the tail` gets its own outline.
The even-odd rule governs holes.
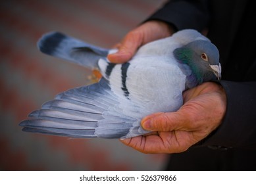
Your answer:
[[[107,58],[113,63],[127,62],[142,45],[142,40],[140,32],[128,33],[123,41],[118,44],[118,52],[108,55]]]

